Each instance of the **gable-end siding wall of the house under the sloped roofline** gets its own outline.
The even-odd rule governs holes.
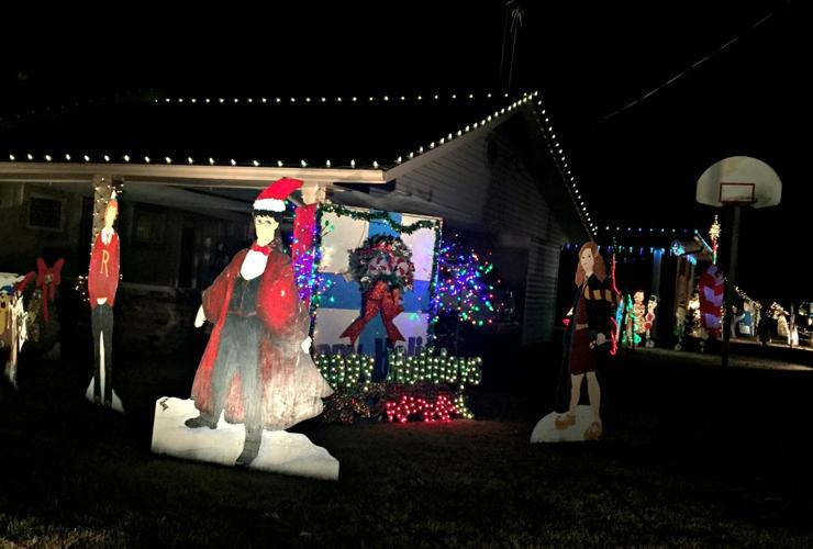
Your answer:
[[[521,117],[449,147],[398,177],[397,189],[434,202],[447,212],[445,223],[499,235],[495,255],[522,266],[522,343],[553,337],[559,250],[570,242],[544,195],[544,186],[563,186],[543,154],[523,150],[527,130]],[[527,147],[524,147],[527,148]],[[570,208],[573,208],[570,205]],[[497,265],[502,269],[502,265]]]

